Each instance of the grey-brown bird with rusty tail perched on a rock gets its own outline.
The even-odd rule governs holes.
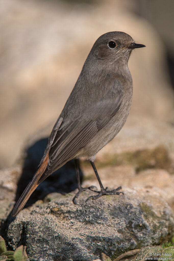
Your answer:
[[[49,136],[44,155],[21,197],[12,216],[25,206],[28,198],[54,171],[71,159],[75,161],[78,192],[94,191],[86,199],[103,195],[119,195],[121,186],[109,191],[101,183],[94,159],[98,151],[111,141],[123,127],[131,107],[133,82],[128,68],[132,50],[146,47],[137,44],[124,32],[107,32],[94,43],[82,67],[77,82]],[[83,188],[79,176],[79,158],[89,160],[100,185]]]

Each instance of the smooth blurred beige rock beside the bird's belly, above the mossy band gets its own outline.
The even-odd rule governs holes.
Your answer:
[[[172,125],[151,117],[131,114],[117,136],[97,153],[96,159],[115,153],[153,149],[160,145],[166,147],[173,157],[173,137]]]

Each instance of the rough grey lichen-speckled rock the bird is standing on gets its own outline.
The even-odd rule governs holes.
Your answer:
[[[121,253],[150,244],[159,244],[173,233],[173,212],[158,190],[124,189],[124,195],[85,199],[86,191],[74,205],[74,193],[48,195],[49,203],[36,202],[9,219],[6,239],[13,249],[27,246],[30,261],[112,260]],[[57,195],[57,198],[56,198]]]

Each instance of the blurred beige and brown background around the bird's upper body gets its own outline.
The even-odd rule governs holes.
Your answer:
[[[173,0],[0,0],[0,168],[49,135],[92,45],[109,31],[147,46],[129,60],[130,117],[174,126],[173,11]]]

